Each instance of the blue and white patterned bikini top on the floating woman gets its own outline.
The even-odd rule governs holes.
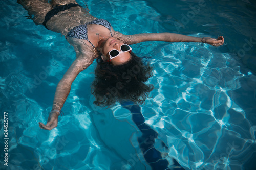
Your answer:
[[[111,23],[104,19],[95,19],[86,24],[76,26],[70,30],[70,32],[67,34],[67,37],[84,39],[84,40],[87,40],[88,42],[90,42],[88,39],[88,34],[87,34],[87,25],[88,24],[97,24],[97,25],[104,26],[105,28],[110,30],[110,34],[113,37],[112,32],[111,32]],[[91,42],[90,42],[90,44],[93,47],[95,47]]]

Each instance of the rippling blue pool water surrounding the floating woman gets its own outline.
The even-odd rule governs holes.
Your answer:
[[[123,34],[223,35],[225,44],[132,45],[154,66],[148,83],[155,89],[141,106],[94,106],[94,63],[72,84],[58,127],[46,131],[38,122],[46,123],[75,52],[16,1],[2,1],[1,169],[163,169],[166,162],[169,169],[255,169],[255,1],[78,2]]]

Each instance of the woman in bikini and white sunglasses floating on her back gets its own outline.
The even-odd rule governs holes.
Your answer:
[[[76,59],[57,85],[52,111],[47,124],[40,128],[52,130],[57,127],[58,116],[65,103],[71,84],[79,72],[97,59],[92,93],[94,104],[110,106],[119,100],[142,104],[153,86],[145,82],[152,76],[152,67],[144,65],[129,46],[144,41],[202,42],[213,46],[224,43],[218,39],[191,37],[174,33],[150,33],[124,35],[115,31],[110,22],[92,16],[75,0],[18,0],[28,10],[37,25],[61,33],[74,47]]]

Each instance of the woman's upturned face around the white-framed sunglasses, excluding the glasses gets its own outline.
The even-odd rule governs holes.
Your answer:
[[[120,46],[124,44],[122,41],[117,40],[113,37],[108,38],[104,43],[102,43],[102,53],[110,59],[109,52],[113,49],[121,51]],[[124,52],[119,54],[117,57],[111,60],[113,65],[123,64],[131,59],[131,54],[129,52]]]

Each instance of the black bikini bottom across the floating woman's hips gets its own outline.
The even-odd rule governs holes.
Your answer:
[[[81,7],[78,4],[74,4],[74,3],[70,3],[70,4],[65,4],[65,5],[59,5],[55,8],[53,8],[51,11],[49,11],[46,16],[45,16],[45,20],[44,22],[42,22],[42,25],[44,25],[46,27],[46,23],[54,16],[56,15],[58,12],[60,11],[65,11],[67,9],[70,9],[71,7]],[[47,27],[46,27],[47,28]],[[48,28],[47,28],[48,29]],[[48,29],[49,30],[49,29]]]

